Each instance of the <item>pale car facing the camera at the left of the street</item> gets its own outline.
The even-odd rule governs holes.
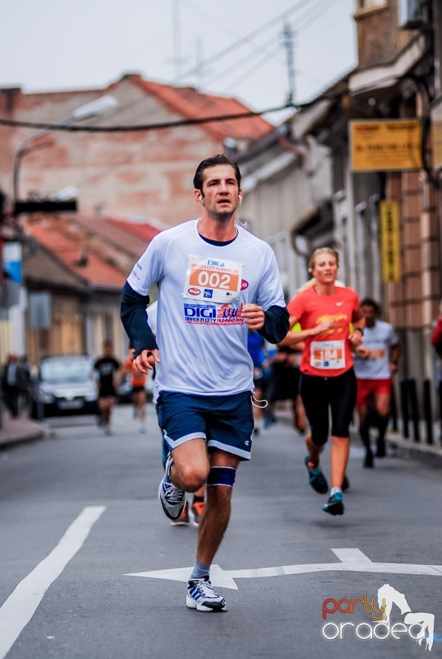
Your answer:
[[[48,357],[40,363],[32,391],[31,417],[97,414],[93,360],[86,356]]]

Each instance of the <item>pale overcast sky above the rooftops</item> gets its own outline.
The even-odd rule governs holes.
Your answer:
[[[237,97],[253,110],[278,107],[290,91],[284,21],[293,33],[292,91],[295,100],[304,101],[356,65],[355,5],[356,0],[0,0],[0,86],[102,88],[137,71],[150,80]]]

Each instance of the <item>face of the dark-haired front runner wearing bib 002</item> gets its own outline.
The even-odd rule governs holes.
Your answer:
[[[202,198],[209,215],[229,220],[240,203],[239,196],[240,188],[231,165],[215,165],[202,172]]]

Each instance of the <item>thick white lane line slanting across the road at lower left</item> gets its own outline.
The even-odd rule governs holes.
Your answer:
[[[0,608],[0,659],[10,651],[29,623],[51,583],[60,576],[100,518],[105,506],[87,506],[72,522],[60,542],[27,575]]]

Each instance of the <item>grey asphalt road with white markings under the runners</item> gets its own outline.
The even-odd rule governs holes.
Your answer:
[[[110,437],[75,419],[54,432],[0,453],[0,659],[408,659],[432,614],[427,656],[442,656],[440,461],[364,470],[353,445],[332,518],[282,418],[237,474],[212,570],[229,610],[203,614],[184,605],[198,530],[171,527],[156,500],[152,408],[144,435],[128,406]],[[384,584],[389,625],[375,627]]]

